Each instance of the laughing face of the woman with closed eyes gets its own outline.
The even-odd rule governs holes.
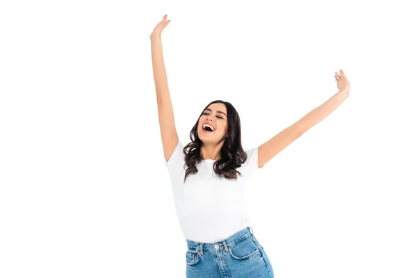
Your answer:
[[[209,124],[214,131],[205,131],[204,124]],[[203,115],[199,118],[197,134],[204,143],[217,144],[227,135],[227,108],[222,103],[211,104],[203,111]]]

